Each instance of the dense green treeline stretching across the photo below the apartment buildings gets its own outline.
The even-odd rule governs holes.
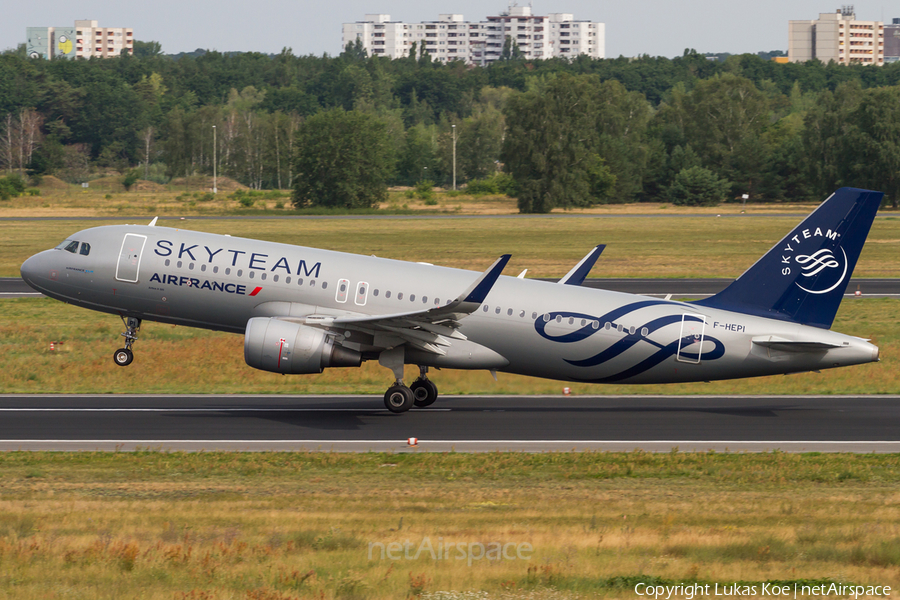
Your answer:
[[[842,185],[900,197],[900,63],[686,51],[472,68],[415,50],[394,61],[359,47],[336,57],[137,50],[90,61],[0,55],[0,168],[71,182],[137,170],[164,183],[211,174],[215,160],[250,187],[286,188],[298,165],[311,168],[304,152],[338,145],[306,124],[319,115],[335,127],[325,116],[339,109],[382,136],[383,164],[369,168],[385,183],[450,184],[455,137],[458,183],[505,171],[523,211],[821,199]],[[315,202],[325,192],[306,193]]]

